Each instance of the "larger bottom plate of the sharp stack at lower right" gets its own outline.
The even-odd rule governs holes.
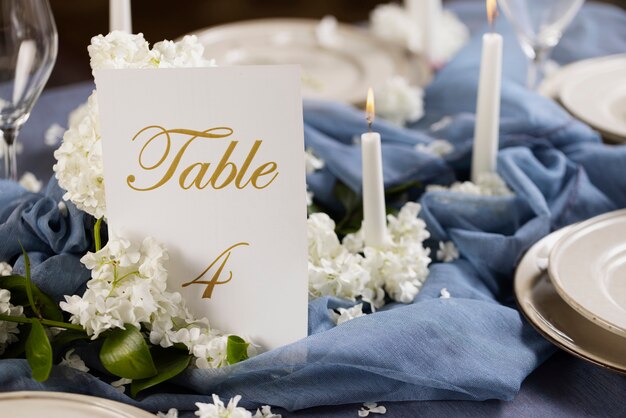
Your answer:
[[[542,268],[550,247],[571,228],[553,232],[526,252],[515,272],[517,304],[548,341],[584,360],[626,373],[626,338],[599,327],[565,303]]]

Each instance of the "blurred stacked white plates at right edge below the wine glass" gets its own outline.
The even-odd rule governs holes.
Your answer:
[[[626,54],[578,61],[550,75],[539,91],[612,142],[626,142]]]

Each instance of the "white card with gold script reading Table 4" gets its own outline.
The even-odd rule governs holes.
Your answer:
[[[111,233],[169,251],[168,286],[266,349],[307,335],[297,66],[95,72]]]

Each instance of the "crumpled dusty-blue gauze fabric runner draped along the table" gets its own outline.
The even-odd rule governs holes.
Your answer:
[[[484,19],[484,3],[452,7],[475,34],[428,87],[426,117],[410,129],[384,121],[376,124],[384,143],[388,187],[408,181],[427,185],[467,179],[480,29],[484,29],[476,22]],[[524,378],[555,350],[515,307],[516,263],[550,231],[626,207],[626,148],[603,145],[588,126],[527,90],[526,60],[515,35],[504,21],[497,29],[505,39],[498,172],[515,194],[428,192],[421,196],[421,216],[432,243],[453,241],[461,258],[432,264],[414,303],[390,304],[374,315],[335,326],[328,309],[350,303],[313,300],[308,338],[224,369],[188,370],[138,399],[118,392],[103,379],[63,366],[55,366],[50,379],[38,383],[31,379],[26,361],[16,359],[0,361],[0,390],[85,393],[152,411],[193,410],[194,402],[209,402],[212,393],[226,398],[242,395],[244,406],[270,404],[288,410],[367,401],[514,397]],[[554,57],[567,63],[623,51],[626,14],[591,4]],[[56,93],[62,99],[57,98],[58,108],[51,111],[55,121],[64,125],[67,110],[84,101],[89,90],[83,86]],[[44,106],[35,109],[33,118]],[[430,125],[444,116],[450,116],[450,122],[432,131]],[[326,162],[309,176],[309,188],[325,206],[339,210],[332,194],[337,179],[360,192],[360,148],[353,137],[365,129],[363,112],[306,102],[304,117],[306,144]],[[441,158],[416,149],[434,139],[450,141],[454,152]],[[41,155],[40,161],[49,161],[49,154]],[[49,173],[50,167],[44,170]],[[34,280],[57,300],[82,292],[89,274],[78,260],[91,246],[93,228],[93,219],[71,203],[67,216],[59,210],[62,194],[54,179],[40,194],[0,182],[0,261],[16,263],[15,268],[23,270],[19,239],[31,254]],[[442,288],[448,289],[450,299],[439,298]],[[93,353],[82,354],[97,370]]]

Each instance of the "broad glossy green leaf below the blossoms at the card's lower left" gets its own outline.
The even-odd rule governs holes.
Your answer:
[[[146,379],[157,374],[143,335],[132,325],[116,329],[104,340],[100,361],[105,369],[126,379]]]

